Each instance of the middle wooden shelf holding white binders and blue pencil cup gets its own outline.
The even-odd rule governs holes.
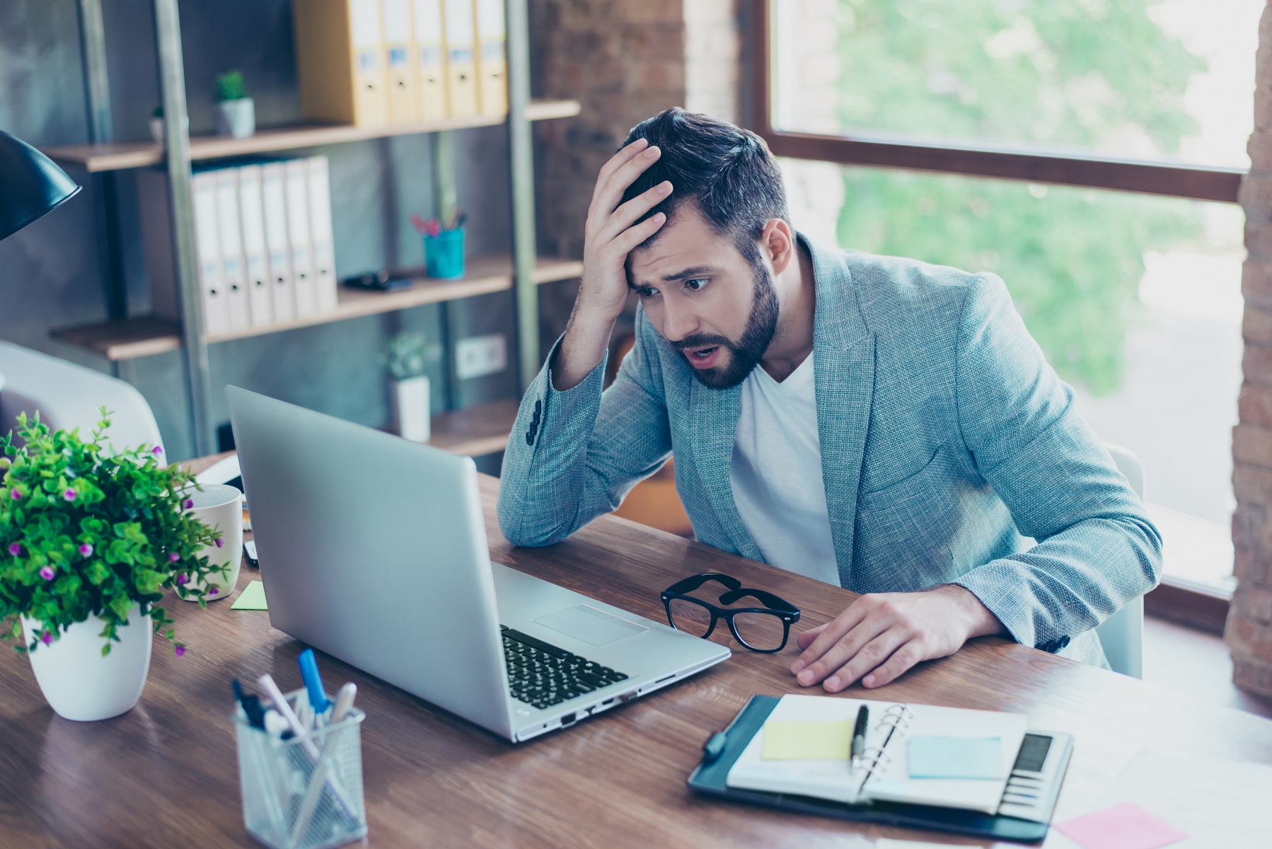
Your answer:
[[[336,321],[345,321],[346,318],[375,316],[378,313],[396,312],[422,304],[471,298],[492,291],[506,291],[513,288],[513,260],[506,256],[469,260],[468,275],[462,280],[434,280],[424,276],[422,269],[402,274],[413,277],[413,283],[404,289],[364,291],[341,286],[337,293],[337,307],[333,312],[216,333],[207,337],[207,344],[212,345],[234,339],[247,339],[248,336],[279,333],[298,327],[328,325]],[[544,284],[556,280],[569,280],[581,274],[583,262],[579,260],[541,257],[534,266],[534,283]],[[181,347],[181,328],[174,322],[155,318],[154,316],[67,327],[55,330],[52,336],[76,347],[100,354],[111,360],[135,359]]]

